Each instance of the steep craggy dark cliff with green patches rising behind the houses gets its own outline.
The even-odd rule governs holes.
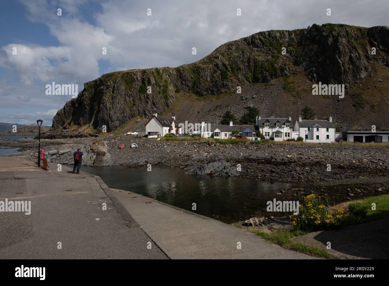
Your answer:
[[[375,47],[376,54],[371,53],[372,47]],[[286,54],[282,53],[283,48],[286,48]],[[373,87],[366,86],[366,88],[376,89],[374,92],[378,95],[378,100],[375,98],[371,101],[373,99],[365,98],[363,88],[359,90],[349,88],[363,86],[357,83],[371,77],[372,71],[377,71],[377,68],[384,68],[380,70],[384,79],[373,77],[371,80],[376,81],[373,82]],[[305,85],[308,85],[308,81],[310,85],[318,82],[345,84],[346,88],[349,88],[347,90],[350,95],[349,100],[347,101],[346,98],[342,105],[336,104],[339,102],[337,97],[326,98],[329,100],[327,113],[341,115],[344,111],[350,111],[347,116],[339,116],[342,122],[337,123],[351,128],[355,125],[352,120],[356,113],[365,109],[366,104],[367,109],[364,112],[389,114],[389,99],[386,98],[389,77],[385,78],[389,75],[388,68],[388,27],[364,28],[343,24],[322,26],[314,24],[300,30],[259,32],[223,44],[195,63],[176,68],[112,72],[86,82],[78,97],[68,101],[54,116],[51,130],[43,136],[61,138],[95,135],[102,132],[103,125],[107,126],[107,132],[110,132],[135,117],[149,118],[154,112],[172,110],[177,95],[207,98],[207,96],[230,93],[229,96],[236,101],[241,96],[234,92],[237,86],[246,87],[245,92],[251,94],[258,86],[266,86],[270,82],[274,84],[277,79],[284,79],[284,82],[280,85],[282,89],[275,90],[275,94],[298,96],[296,93],[305,92],[307,96],[312,97],[310,86],[303,90],[289,84],[288,80],[293,76],[297,78],[294,82],[302,82],[305,79],[307,82],[304,81]],[[379,82],[384,83],[378,84]],[[151,93],[148,93],[148,86],[151,87]],[[256,96],[255,92],[253,95]],[[303,97],[300,95],[300,98]],[[275,102],[278,105],[285,105],[283,112],[292,113],[293,110],[294,116],[297,116],[296,114],[306,105],[304,100],[300,100],[298,106],[283,104],[277,100],[279,99],[272,94],[265,94],[261,102],[270,101],[273,105]],[[294,98],[290,101],[296,102]],[[261,102],[254,102],[254,105]],[[317,111],[321,109],[316,100],[310,105]],[[219,107],[219,111],[226,109],[223,104],[216,107]],[[175,108],[177,110],[177,107]],[[338,110],[333,110],[336,108]],[[179,109],[180,107],[177,111]],[[204,114],[203,118],[208,116],[207,111],[209,110],[201,111]],[[270,111],[273,112],[270,108],[266,108],[264,113]],[[277,109],[274,109],[274,112],[276,111]],[[197,113],[200,114],[200,110]],[[268,116],[271,115],[284,116],[284,114]],[[334,120],[336,122],[336,116]],[[369,124],[370,122],[366,123]]]

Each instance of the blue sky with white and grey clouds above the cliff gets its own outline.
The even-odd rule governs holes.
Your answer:
[[[47,94],[52,82],[80,92],[107,72],[193,63],[261,31],[389,26],[387,15],[388,0],[0,0],[0,122],[51,126],[72,99]]]

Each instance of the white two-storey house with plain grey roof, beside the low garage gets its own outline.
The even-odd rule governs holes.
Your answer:
[[[306,142],[334,142],[335,141],[335,126],[332,123],[332,117],[328,120],[303,120],[301,115],[298,117],[294,125],[294,131],[298,132],[298,136],[303,137]]]

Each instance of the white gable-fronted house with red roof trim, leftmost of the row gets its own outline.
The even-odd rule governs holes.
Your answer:
[[[182,134],[182,128],[178,126],[175,121],[174,114],[172,117],[158,116],[154,113],[153,116],[147,121],[145,125],[145,133],[148,135],[161,135],[174,134],[176,137],[180,137]]]

